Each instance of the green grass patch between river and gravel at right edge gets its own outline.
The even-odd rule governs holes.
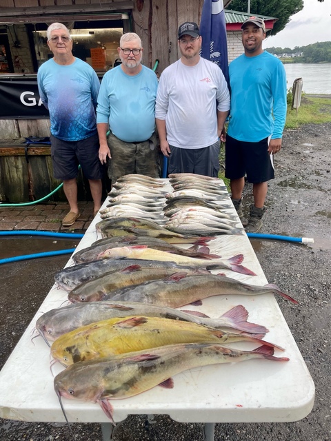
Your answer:
[[[331,123],[331,99],[306,97],[303,94],[298,112],[288,105],[285,129],[297,129],[300,125],[309,123]]]

